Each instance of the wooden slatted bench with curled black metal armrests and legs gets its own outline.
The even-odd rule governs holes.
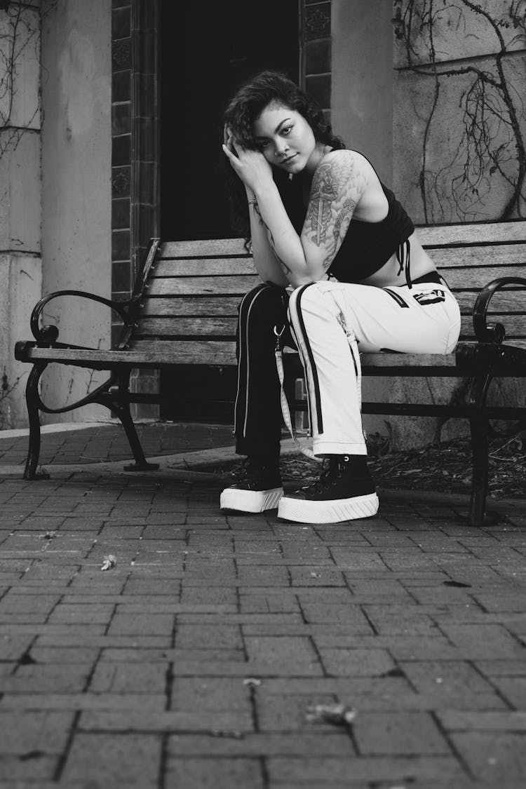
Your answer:
[[[473,453],[469,519],[472,524],[481,524],[487,495],[488,421],[526,417],[524,402],[487,406],[491,380],[526,376],[526,222],[436,226],[420,228],[419,234],[460,302],[461,342],[456,352],[447,356],[366,353],[362,355],[363,374],[468,377],[468,402],[364,402],[363,411],[468,419]],[[15,350],[18,360],[33,365],[26,389],[30,435],[24,478],[36,475],[39,412],[61,413],[88,402],[102,403],[121,420],[135,458],[135,464],[127,468],[151,469],[129,404],[159,402],[160,395],[130,392],[132,369],[235,365],[237,306],[257,282],[252,260],[239,239],[166,243],[155,239],[129,301],[115,303],[74,290],[59,291],[39,301],[31,318],[35,341],[17,342]],[[49,301],[73,295],[102,302],[121,316],[124,327],[114,350],[58,342],[57,327],[40,325],[41,313]],[[285,361],[289,368],[298,369],[296,353],[285,354]],[[107,370],[109,378],[80,402],[50,409],[39,397],[39,379],[51,362]],[[299,402],[294,405],[305,407]]]

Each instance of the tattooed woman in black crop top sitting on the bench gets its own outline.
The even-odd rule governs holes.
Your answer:
[[[247,462],[221,507],[278,507],[278,517],[310,523],[374,515],[356,343],[365,352],[450,353],[457,302],[394,194],[296,84],[260,73],[225,120],[222,149],[244,189],[263,284],[240,307],[234,432]],[[274,327],[287,323],[304,365],[313,451],[328,464],[319,482],[284,495]]]

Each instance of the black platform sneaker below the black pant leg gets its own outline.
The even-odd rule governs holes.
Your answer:
[[[278,507],[282,495],[283,484],[278,466],[247,458],[241,479],[225,488],[219,506],[222,510],[264,512]]]

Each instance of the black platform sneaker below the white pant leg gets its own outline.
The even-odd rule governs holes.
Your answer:
[[[278,518],[299,523],[338,523],[378,512],[375,483],[364,458],[334,455],[318,482],[280,499]]]

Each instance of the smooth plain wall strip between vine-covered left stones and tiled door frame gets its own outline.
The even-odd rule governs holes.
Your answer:
[[[42,21],[43,291],[65,288],[111,294],[111,3],[58,0]],[[50,303],[47,322],[59,339],[110,347],[111,313],[69,297]],[[50,365],[43,400],[75,402],[104,372]],[[103,406],[50,415],[45,421],[108,418]]]

